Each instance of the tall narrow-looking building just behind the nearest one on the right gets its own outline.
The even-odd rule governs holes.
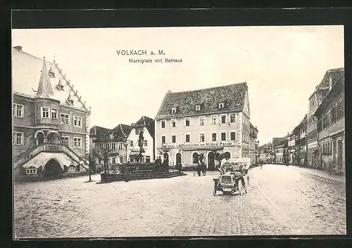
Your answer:
[[[320,84],[315,87],[315,91],[309,98],[309,110],[307,114],[308,133],[308,166],[318,167],[318,124],[317,117],[314,116],[322,100],[327,96],[333,81],[337,81],[344,74],[344,68],[332,69],[325,72]],[[343,77],[343,76],[342,76]]]

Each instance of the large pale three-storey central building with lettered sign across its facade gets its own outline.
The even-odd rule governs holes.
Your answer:
[[[170,164],[189,167],[215,152],[250,157],[250,111],[246,82],[196,91],[168,92],[156,115],[156,148]]]

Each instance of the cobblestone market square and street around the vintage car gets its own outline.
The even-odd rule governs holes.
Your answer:
[[[15,237],[342,235],[345,184],[309,170],[264,165],[244,195],[213,196],[187,176],[96,184],[88,176],[15,185]]]

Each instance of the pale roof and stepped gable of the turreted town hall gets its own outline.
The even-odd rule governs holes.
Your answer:
[[[34,96],[45,96],[50,92],[49,84],[54,93],[50,98],[59,100],[61,105],[68,105],[83,111],[90,111],[85,105],[78,92],[73,88],[73,84],[65,77],[58,64],[37,58],[29,53],[25,53],[21,48],[12,48],[12,91],[23,96],[34,98]],[[49,71],[48,71],[49,69]],[[47,73],[45,73],[45,70]],[[44,74],[43,74],[43,73]],[[49,77],[49,74],[51,77]],[[59,81],[63,89],[58,86]],[[39,82],[43,83],[42,86]],[[43,94],[44,92],[44,94]],[[74,105],[69,105],[68,96],[73,96]],[[49,93],[50,95],[50,93]]]

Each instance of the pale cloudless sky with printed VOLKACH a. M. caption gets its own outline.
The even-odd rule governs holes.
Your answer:
[[[165,93],[246,81],[259,145],[285,136],[308,112],[327,70],[344,67],[343,26],[134,27],[12,30],[12,46],[56,60],[82,100],[91,126],[154,118]],[[119,56],[117,50],[146,50]],[[150,51],[165,55],[151,56]],[[182,59],[182,63],[129,63]]]

